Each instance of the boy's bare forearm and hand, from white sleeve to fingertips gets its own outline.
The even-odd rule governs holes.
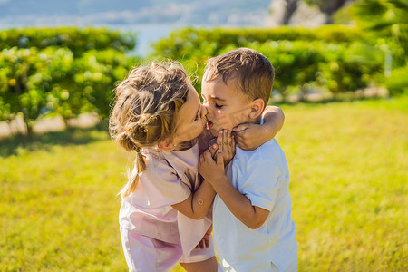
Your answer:
[[[224,174],[222,151],[217,152],[217,162],[212,160],[209,151],[205,151],[199,160],[199,173],[212,185],[228,209],[248,228],[256,229],[264,224],[269,210],[253,206],[228,181]]]

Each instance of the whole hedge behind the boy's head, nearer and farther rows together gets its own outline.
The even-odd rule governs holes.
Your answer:
[[[384,53],[355,28],[326,25],[316,29],[184,29],[154,45],[155,57],[183,63],[201,78],[205,62],[238,47],[264,53],[276,68],[281,94],[353,92],[374,81],[383,69]],[[200,83],[196,85],[200,91]]]

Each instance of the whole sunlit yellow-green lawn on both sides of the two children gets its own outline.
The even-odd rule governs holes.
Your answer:
[[[282,108],[299,271],[406,271],[408,98]],[[0,271],[125,271],[130,165],[105,131],[0,141]]]

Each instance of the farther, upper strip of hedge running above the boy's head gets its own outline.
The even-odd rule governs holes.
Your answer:
[[[278,27],[278,28],[239,28],[239,29],[195,29],[186,28],[174,31],[168,38],[160,39],[153,45],[154,55],[171,59],[189,59],[206,53],[218,55],[227,46],[245,47],[254,42],[268,41],[322,41],[325,43],[352,43],[363,40],[363,34],[356,28],[342,25],[325,25],[316,29]]]

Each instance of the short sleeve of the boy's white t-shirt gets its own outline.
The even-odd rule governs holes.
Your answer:
[[[270,160],[257,160],[248,165],[247,174],[238,177],[239,191],[253,206],[272,210],[277,199],[282,174]]]

